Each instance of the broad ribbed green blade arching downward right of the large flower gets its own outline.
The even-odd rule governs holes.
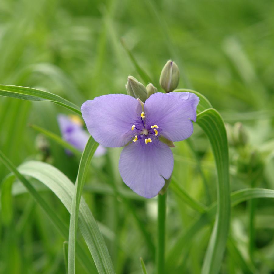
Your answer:
[[[230,223],[227,134],[224,121],[215,109],[207,109],[199,113],[196,122],[210,141],[218,174],[216,219],[202,267],[203,274],[214,274],[218,273],[221,267]]]

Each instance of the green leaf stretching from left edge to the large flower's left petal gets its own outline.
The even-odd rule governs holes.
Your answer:
[[[81,115],[81,110],[75,104],[53,93],[35,88],[26,88],[11,85],[0,85],[0,96],[18,98],[31,101],[51,101]]]

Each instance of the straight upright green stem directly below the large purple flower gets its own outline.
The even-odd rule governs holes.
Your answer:
[[[165,213],[166,213],[166,196],[158,195],[158,225],[157,225],[157,250],[156,250],[156,268],[157,274],[165,273]]]

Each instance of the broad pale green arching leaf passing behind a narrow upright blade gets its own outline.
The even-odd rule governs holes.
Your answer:
[[[39,180],[49,187],[61,200],[67,210],[71,212],[72,197],[74,195],[75,186],[68,179],[68,177],[57,168],[43,162],[29,161],[21,165],[19,167],[19,171],[24,175],[28,175]],[[99,265],[99,267],[96,265],[98,272],[102,271],[102,269],[106,269],[105,272],[99,273],[114,273],[102,234],[83,198],[81,198],[79,206],[78,223],[79,229],[85,239],[86,244],[88,245],[88,249],[92,254],[93,260],[97,260],[96,264]],[[96,252],[99,253],[97,254]]]

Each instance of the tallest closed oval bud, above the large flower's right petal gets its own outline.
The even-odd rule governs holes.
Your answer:
[[[160,85],[165,90],[165,92],[172,92],[177,88],[180,79],[180,72],[177,65],[169,60],[162,69],[160,75]]]

